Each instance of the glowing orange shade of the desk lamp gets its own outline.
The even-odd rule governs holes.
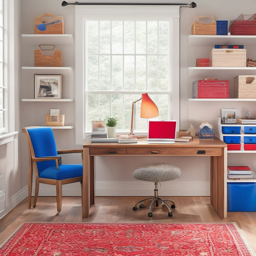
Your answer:
[[[141,118],[153,118],[158,116],[158,107],[154,101],[149,98],[147,93],[142,94],[140,117]]]

